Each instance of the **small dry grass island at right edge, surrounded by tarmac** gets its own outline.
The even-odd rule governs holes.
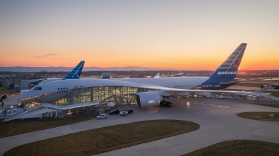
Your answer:
[[[274,114],[274,116],[269,116],[269,114]],[[254,119],[261,121],[279,121],[279,112],[243,112],[237,114],[237,116],[246,119]]]

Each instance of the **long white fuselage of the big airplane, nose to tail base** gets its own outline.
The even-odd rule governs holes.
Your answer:
[[[208,77],[177,77],[177,78],[115,78],[115,79],[69,79],[42,83],[17,97],[23,102],[55,102],[71,90],[78,88],[123,86],[146,89],[192,89],[201,85]]]

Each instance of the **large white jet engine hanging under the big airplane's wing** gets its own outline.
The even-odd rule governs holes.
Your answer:
[[[138,107],[152,107],[160,104],[163,97],[158,92],[139,92],[137,94]]]

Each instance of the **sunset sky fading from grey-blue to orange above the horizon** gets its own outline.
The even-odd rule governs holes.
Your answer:
[[[279,1],[1,0],[0,66],[279,69]]]

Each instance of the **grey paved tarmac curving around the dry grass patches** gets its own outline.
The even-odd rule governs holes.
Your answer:
[[[92,119],[77,124],[0,138],[0,154],[3,155],[4,152],[18,145],[38,140],[86,131],[92,128],[154,119],[193,121],[199,124],[200,128],[190,133],[114,150],[98,156],[183,155],[215,143],[236,139],[279,143],[279,122],[256,121],[237,116],[239,112],[279,112],[279,108],[249,104],[246,101],[239,100],[191,98],[171,101],[173,102],[173,107],[139,108],[135,105],[123,105],[120,106],[120,110],[130,107],[135,112],[128,116],[108,116],[108,119]]]

